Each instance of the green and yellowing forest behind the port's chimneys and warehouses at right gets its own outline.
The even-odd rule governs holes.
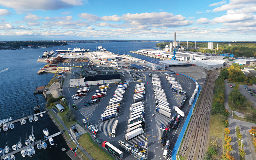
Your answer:
[[[218,50],[217,50],[218,44]],[[230,44],[230,46],[229,46]],[[162,49],[170,42],[157,43],[156,46]],[[187,42],[180,42],[180,46],[187,46]],[[199,50],[189,49],[187,51],[212,53],[212,54],[234,54],[234,57],[256,57],[256,42],[213,42],[214,50],[207,49],[208,42],[188,42],[188,46],[200,47]],[[186,51],[186,50],[184,50]]]

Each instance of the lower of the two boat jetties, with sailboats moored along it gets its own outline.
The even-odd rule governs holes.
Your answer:
[[[28,156],[28,153],[27,153],[27,148],[28,148],[28,147],[30,147],[31,145],[33,145],[34,148],[37,148],[36,145],[39,143],[39,144],[41,145],[41,147],[43,148],[42,143],[41,143],[43,140],[45,141],[45,140],[48,140],[48,139],[50,139],[50,138],[56,137],[57,135],[60,135],[60,134],[62,134],[63,132],[65,132],[65,130],[60,131],[60,132],[55,133],[55,134],[52,134],[52,135],[50,135],[50,136],[48,136],[48,137],[46,137],[46,138],[44,138],[44,139],[42,139],[42,140],[39,140],[39,141],[36,141],[36,142],[33,142],[33,143],[31,143],[30,140],[28,140],[28,141],[29,141],[29,145],[27,145],[27,146],[25,146],[25,147],[22,147],[22,148],[20,148],[20,149],[19,149],[18,146],[17,146],[17,149],[16,149],[16,150],[14,150],[14,151],[12,151],[12,152],[6,154],[6,155],[4,154],[4,149],[3,149],[3,156],[1,156],[1,159],[4,159],[5,156],[11,156],[12,154],[14,155],[14,154],[16,154],[16,153],[19,153],[19,152],[21,152],[22,149],[24,149],[24,150],[26,151],[26,155]]]

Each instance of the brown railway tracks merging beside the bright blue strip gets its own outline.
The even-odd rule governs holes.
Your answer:
[[[182,144],[183,149],[180,150],[180,156],[185,156],[188,160],[204,159],[207,129],[213,97],[212,91],[217,73],[218,72],[216,71],[207,72],[207,79],[204,83],[204,87],[201,89],[201,96],[197,101],[194,115]]]

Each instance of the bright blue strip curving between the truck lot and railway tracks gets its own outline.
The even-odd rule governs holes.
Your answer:
[[[181,74],[181,73],[179,73],[179,74]],[[182,75],[184,75],[184,74],[182,74]],[[186,76],[186,75],[184,75],[184,76]],[[186,77],[188,77],[188,76],[186,76]],[[191,80],[196,82],[196,80],[192,79],[191,77],[188,77],[188,78],[190,78]],[[201,86],[198,85],[198,94],[196,94],[196,97],[194,99],[194,103],[192,104],[192,106],[191,106],[191,108],[189,110],[189,113],[188,113],[188,116],[186,118],[186,121],[184,122],[184,126],[183,126],[183,128],[182,128],[182,130],[180,132],[180,135],[179,135],[179,137],[178,137],[178,139],[177,139],[177,141],[176,141],[176,143],[174,145],[174,148],[172,150],[172,160],[176,160],[177,152],[179,151],[183,135],[185,134],[184,132],[186,132],[186,129],[188,127],[188,122],[189,122],[189,120],[190,120],[190,118],[192,116],[192,113],[193,113],[193,110],[194,110],[194,107],[196,105],[196,102],[197,102],[197,99],[198,99],[198,96],[199,96],[200,92],[201,92]]]

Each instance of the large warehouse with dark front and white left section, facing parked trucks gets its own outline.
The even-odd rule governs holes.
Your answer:
[[[96,65],[84,65],[79,68],[72,68],[69,86],[86,86],[97,84],[115,83],[121,80],[119,72],[112,67],[97,67]]]

